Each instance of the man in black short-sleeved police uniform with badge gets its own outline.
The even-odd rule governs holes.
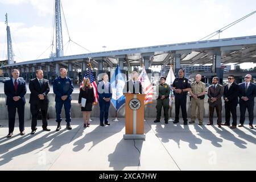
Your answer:
[[[184,125],[188,125],[187,119],[187,94],[191,90],[191,82],[184,77],[184,70],[179,70],[179,78],[175,78],[174,83],[172,84],[172,89],[174,90],[175,96],[175,121],[174,123],[179,122],[180,107],[182,112],[182,117]]]

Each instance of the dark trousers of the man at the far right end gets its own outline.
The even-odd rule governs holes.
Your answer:
[[[249,125],[253,125],[253,109],[254,109],[254,101],[248,102],[248,101],[240,101],[240,124],[243,125],[245,122],[245,112],[246,109],[249,113]]]

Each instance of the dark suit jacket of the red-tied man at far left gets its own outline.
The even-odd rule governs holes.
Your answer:
[[[25,94],[27,93],[27,88],[26,88],[26,82],[22,79],[17,80],[18,88],[17,92],[15,93],[14,90],[14,84],[13,84],[13,79],[5,81],[5,94],[7,96],[6,98],[6,105],[7,106],[16,106],[16,105],[24,105],[26,104],[25,100]],[[13,97],[19,96],[20,100],[19,101],[14,101]]]

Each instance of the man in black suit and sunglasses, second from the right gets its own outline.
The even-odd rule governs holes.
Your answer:
[[[238,92],[239,88],[236,82],[234,82],[234,76],[228,77],[228,84],[225,85],[223,98],[225,101],[225,123],[221,125],[230,126],[230,113],[232,114],[232,126],[230,129],[236,129],[237,127],[237,104],[238,104]]]

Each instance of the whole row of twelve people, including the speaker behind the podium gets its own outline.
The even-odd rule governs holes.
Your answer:
[[[26,100],[24,98],[27,88],[26,82],[19,79],[18,69],[14,69],[12,72],[13,78],[9,81],[5,81],[4,90],[7,96],[6,105],[9,115],[9,134],[7,138],[13,135],[15,125],[15,115],[18,111],[19,116],[19,131],[20,135],[24,135],[24,106]],[[209,123],[207,125],[213,125],[213,112],[216,109],[217,112],[217,125],[221,127],[230,126],[230,113],[232,114],[232,126],[231,129],[237,127],[237,104],[240,104],[240,125],[243,126],[245,122],[246,109],[249,113],[249,127],[253,129],[254,118],[254,97],[256,96],[256,86],[251,83],[251,75],[245,76],[245,82],[236,84],[234,82],[234,76],[228,77],[229,83],[225,86],[218,84],[218,77],[213,77],[212,85],[208,89],[208,103],[209,103]],[[37,130],[37,118],[39,111],[42,113],[43,130],[51,131],[47,126],[47,111],[49,100],[47,94],[49,93],[49,82],[43,78],[43,71],[38,69],[36,71],[36,78],[30,80],[30,111],[32,115],[31,119],[31,134],[35,134]],[[67,77],[67,69],[60,69],[60,76],[53,81],[53,93],[55,93],[55,109],[56,109],[56,131],[61,129],[61,109],[64,105],[65,109],[65,121],[66,128],[72,130],[71,127],[71,94],[74,86],[71,78]],[[166,78],[160,78],[159,92],[156,101],[156,120],[154,122],[160,122],[161,110],[164,109],[164,121],[168,123],[168,109],[171,89],[175,95],[175,121],[179,123],[179,111],[181,108],[184,125],[188,124],[187,119],[187,95],[191,94],[191,121],[189,123],[195,123],[196,116],[199,119],[199,125],[203,125],[203,112],[204,112],[204,96],[207,92],[205,84],[201,81],[201,75],[196,75],[195,81],[190,82],[184,77],[184,70],[179,70],[179,77],[175,78],[172,88],[166,84]],[[110,100],[112,99],[112,88],[109,82],[108,74],[102,76],[102,81],[97,86],[98,101],[100,105],[100,126],[110,125],[108,121]],[[100,90],[100,92],[99,92]],[[131,79],[126,82],[123,93],[135,93],[142,94],[142,84],[138,81],[138,73],[132,72]],[[94,90],[90,84],[89,78],[83,80],[82,88],[79,93],[79,105],[81,107],[84,127],[90,126],[90,111],[94,102]],[[222,110],[222,97],[225,101],[225,123],[221,121]],[[239,102],[238,102],[239,98]],[[82,99],[85,99],[85,105],[82,105]],[[197,109],[197,113],[196,113]],[[105,125],[104,125],[105,124]]]

